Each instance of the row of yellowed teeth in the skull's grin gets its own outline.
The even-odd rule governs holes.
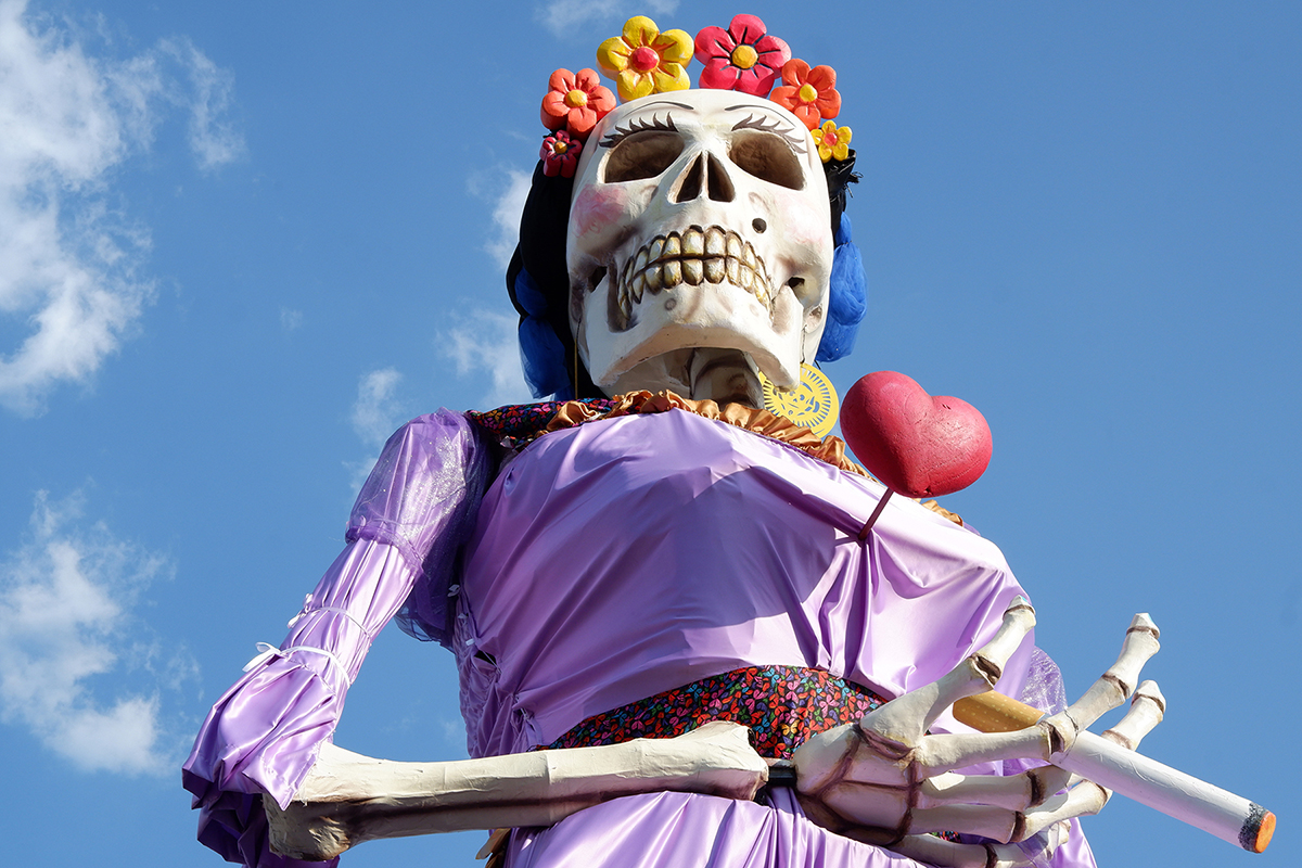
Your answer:
[[[656,295],[680,284],[730,284],[758,298],[769,314],[773,310],[764,260],[750,242],[723,226],[689,226],[682,233],[656,236],[611,275],[618,331],[629,328],[633,306],[641,305],[646,293]]]

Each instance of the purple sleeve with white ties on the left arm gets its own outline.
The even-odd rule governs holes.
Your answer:
[[[201,842],[250,868],[326,864],[271,852],[262,794],[289,804],[391,618],[447,644],[456,550],[491,472],[490,446],[461,414],[419,416],[389,437],[353,508],[348,545],[280,647],[264,647],[199,730],[182,783],[202,808]]]

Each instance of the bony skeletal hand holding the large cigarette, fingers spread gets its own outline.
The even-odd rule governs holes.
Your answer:
[[[1134,750],[1161,720],[1164,700],[1154,682],[1135,691],[1139,670],[1157,652],[1156,626],[1138,614],[1117,662],[1066,711],[1014,733],[928,735],[956,700],[993,688],[1032,626],[1035,610],[1017,597],[990,644],[949,674],[797,748],[798,794],[809,817],[848,837],[952,868],[1018,868],[1034,864],[1032,856],[1052,855],[1065,839],[1066,820],[1098,813],[1108,790],[1052,765],[1008,777],[962,776],[953,769],[991,760],[1048,761],[1069,751],[1077,733],[1131,692],[1130,712],[1104,737]],[[1060,794],[1064,787],[1069,789]],[[975,834],[996,843],[956,843],[930,832]]]

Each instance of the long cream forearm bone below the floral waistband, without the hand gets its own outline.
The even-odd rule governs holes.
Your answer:
[[[271,842],[298,859],[332,859],[375,838],[544,826],[600,802],[676,790],[750,799],[768,780],[746,727],[715,721],[672,739],[393,763],[332,744],[294,800],[270,798]]]

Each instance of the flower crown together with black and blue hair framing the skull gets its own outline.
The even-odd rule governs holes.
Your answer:
[[[634,16],[624,31],[602,43],[596,65],[615,82],[624,102],[687,90],[691,59],[704,69],[698,83],[768,98],[810,129],[828,180],[832,220],[832,272],[828,310],[816,362],[835,362],[854,349],[867,303],[863,260],[845,215],[848,185],[858,180],[850,128],[837,126],[841,95],[831,66],[793,60],[792,49],[768,35],[755,16],[736,16],[728,29],[704,27],[693,39],[682,30],[660,31]],[[780,82],[780,83],[779,83]],[[534,397],[596,397],[602,392],[583,368],[570,333],[565,271],[566,225],[578,157],[598,122],[615,111],[615,94],[592,69],[557,69],[543,96],[547,137],[539,152],[519,221],[519,243],[506,268],[506,292],[519,314],[519,349]]]

